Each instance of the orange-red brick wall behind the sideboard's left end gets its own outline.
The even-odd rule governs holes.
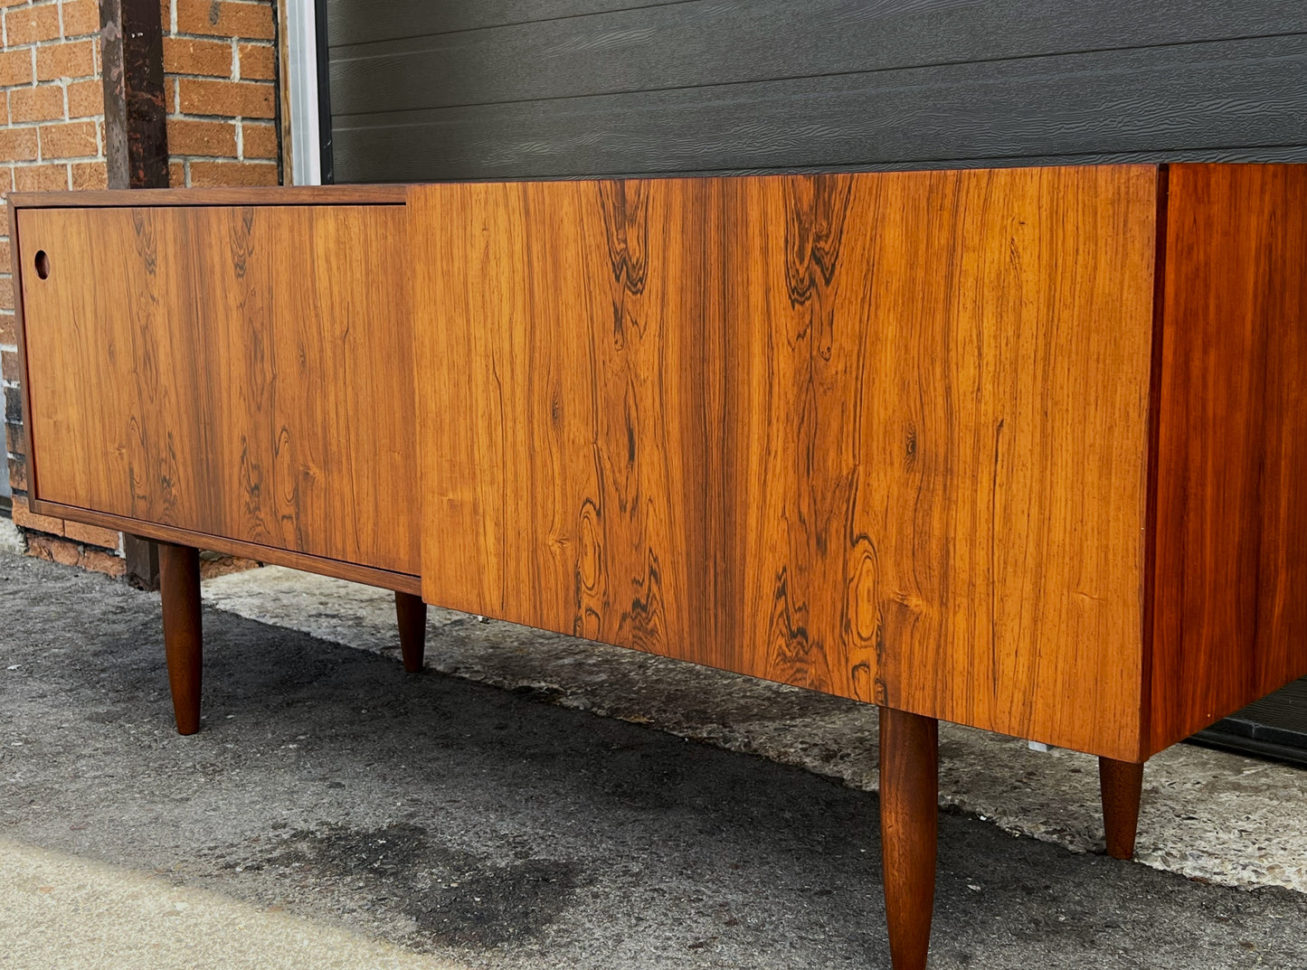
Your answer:
[[[280,181],[273,0],[161,0],[169,180]],[[0,193],[106,185],[98,0],[0,0]],[[13,518],[33,555],[114,576],[120,537],[33,514],[25,492],[8,219],[0,222],[0,379]]]

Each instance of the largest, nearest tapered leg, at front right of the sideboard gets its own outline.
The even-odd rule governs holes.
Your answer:
[[[935,909],[940,723],[881,708],[881,854],[894,970],[923,970]]]

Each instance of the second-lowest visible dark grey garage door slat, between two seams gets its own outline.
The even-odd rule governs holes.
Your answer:
[[[349,43],[363,38],[342,30],[331,97],[348,116],[1294,31],[1307,31],[1303,0],[703,0],[437,37],[414,29],[384,43]]]

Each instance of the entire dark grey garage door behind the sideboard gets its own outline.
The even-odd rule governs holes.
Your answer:
[[[1307,0],[324,1],[337,181],[1307,161]]]

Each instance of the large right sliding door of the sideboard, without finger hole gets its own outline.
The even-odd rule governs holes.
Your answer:
[[[425,598],[1134,757],[1157,189],[414,187]]]

